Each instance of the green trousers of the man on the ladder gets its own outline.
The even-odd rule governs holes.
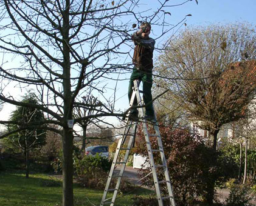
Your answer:
[[[140,71],[136,67],[133,68],[133,73],[131,73],[130,84],[128,88],[128,98],[129,102],[131,100],[131,95],[133,94],[133,81],[139,79],[143,83],[143,99],[146,108],[146,115],[154,116],[153,103],[151,87],[153,83],[152,71]],[[133,105],[137,105],[137,99],[134,99]]]

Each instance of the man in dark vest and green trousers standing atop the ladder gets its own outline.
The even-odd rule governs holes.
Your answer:
[[[145,103],[146,115],[145,119],[154,121],[154,110],[152,104],[151,87],[153,83],[152,69],[153,69],[153,51],[156,41],[150,38],[151,25],[148,22],[142,22],[139,31],[133,33],[131,38],[134,41],[135,48],[133,54],[133,73],[131,74],[130,84],[128,88],[128,98],[131,101],[134,83],[133,81],[139,79],[143,83],[143,99]],[[137,105],[137,99],[134,99],[134,105]],[[138,111],[136,109],[130,111],[129,118],[137,119]]]

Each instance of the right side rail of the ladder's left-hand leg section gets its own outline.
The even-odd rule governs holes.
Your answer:
[[[133,144],[133,140],[135,138],[135,135],[136,135],[136,131],[134,130],[134,135],[130,137],[130,140],[128,142],[127,148],[129,150],[126,150],[126,152],[125,152],[125,157],[123,159],[123,162],[125,162],[125,163],[122,164],[122,167],[121,167],[121,170],[120,170],[120,173],[119,173],[119,178],[117,179],[116,190],[114,191],[114,194],[112,196],[112,201],[111,201],[110,206],[114,206],[114,202],[116,201],[116,196],[117,196],[117,193],[118,193],[118,190],[119,190],[119,187],[120,187],[120,183],[122,181],[123,172],[125,171],[126,162],[128,160],[128,156],[129,156],[129,153],[130,153],[131,145]],[[119,148],[119,150],[120,150],[120,148]]]

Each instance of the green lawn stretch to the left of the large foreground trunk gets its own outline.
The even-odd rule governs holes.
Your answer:
[[[40,174],[30,175],[30,178],[26,179],[24,174],[0,173],[1,203],[6,206],[60,205],[61,181],[47,178],[46,175]]]

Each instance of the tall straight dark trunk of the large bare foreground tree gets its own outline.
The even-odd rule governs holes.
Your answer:
[[[69,48],[69,10],[70,1],[66,0],[63,10],[63,206],[73,206],[73,130],[67,127],[72,117],[71,61]]]

